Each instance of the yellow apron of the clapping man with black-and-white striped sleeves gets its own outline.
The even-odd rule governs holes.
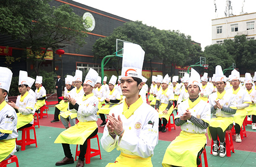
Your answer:
[[[205,134],[192,134],[181,131],[180,135],[166,149],[162,166],[197,167],[197,154],[205,144]]]

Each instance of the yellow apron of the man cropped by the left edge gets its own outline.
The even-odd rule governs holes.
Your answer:
[[[0,141],[0,162],[3,161],[8,155],[16,148],[15,139],[1,140]]]

